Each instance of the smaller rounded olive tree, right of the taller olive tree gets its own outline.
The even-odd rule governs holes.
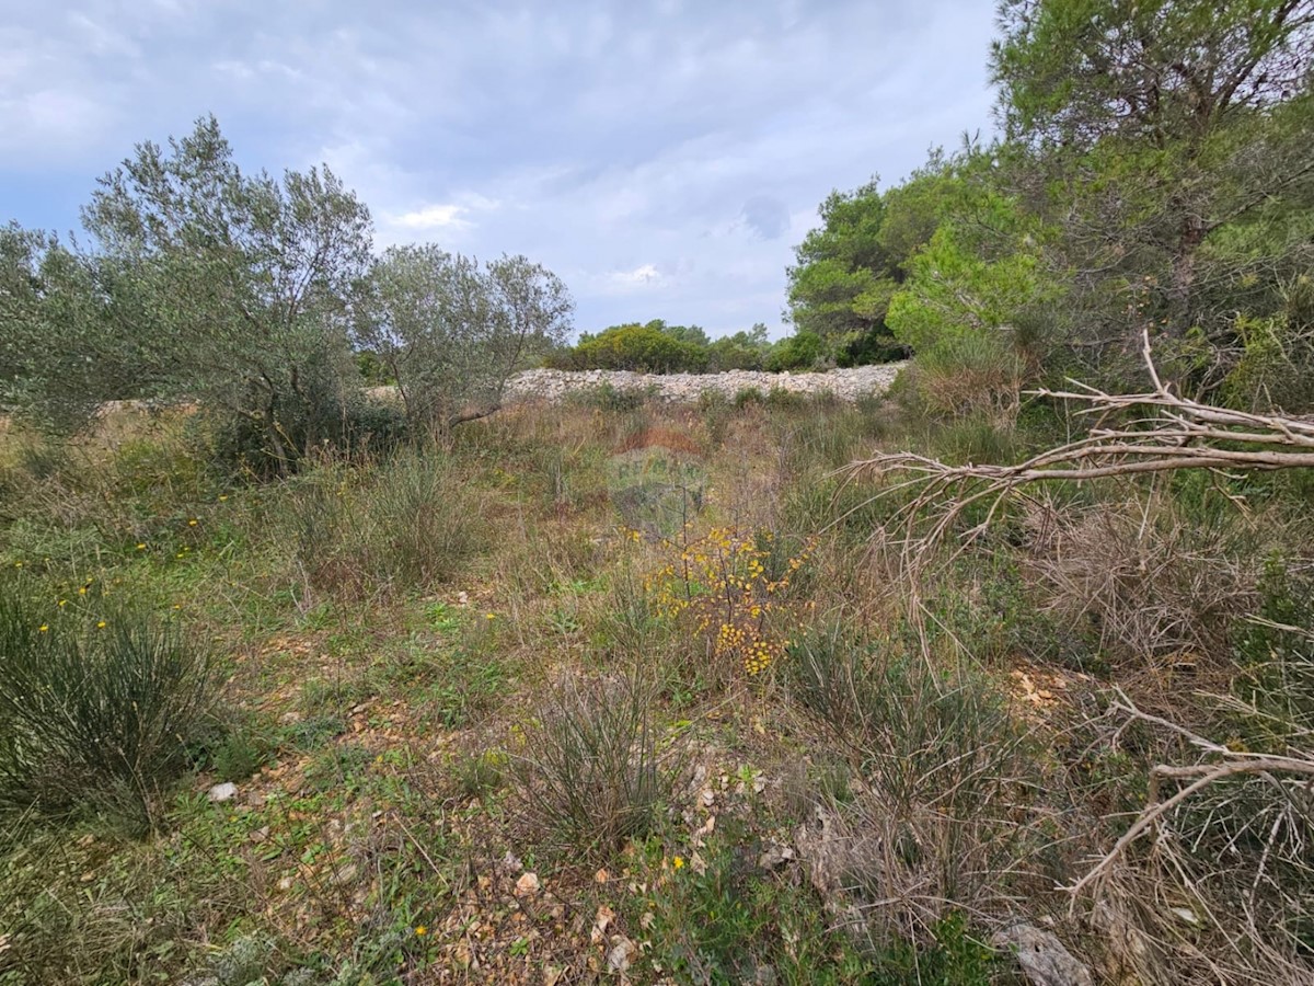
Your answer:
[[[396,377],[407,418],[445,430],[498,410],[511,375],[566,339],[573,309],[565,284],[524,256],[481,264],[399,246],[374,264],[356,331]]]

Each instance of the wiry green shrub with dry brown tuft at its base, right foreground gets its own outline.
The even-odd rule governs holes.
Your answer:
[[[792,646],[787,669],[865,784],[851,803],[823,806],[824,831],[804,836],[813,883],[850,894],[878,941],[892,931],[929,943],[955,906],[1007,906],[1030,853],[1035,768],[1004,698],[964,665],[934,668],[842,623]]]

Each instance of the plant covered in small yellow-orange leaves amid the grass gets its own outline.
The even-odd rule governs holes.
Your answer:
[[[670,547],[678,559],[644,585],[657,609],[687,623],[716,657],[735,660],[748,674],[770,668],[788,646],[784,632],[795,622],[783,590],[812,546],[777,561],[770,531],[715,527],[702,536],[686,528],[682,542]]]

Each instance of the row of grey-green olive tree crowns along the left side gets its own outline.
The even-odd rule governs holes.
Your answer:
[[[0,231],[0,387],[72,429],[113,398],[196,400],[286,471],[350,440],[377,346],[424,423],[495,406],[569,331],[565,285],[523,256],[434,246],[377,259],[367,206],[328,168],[244,174],[214,117],[152,142],[83,209],[87,243]]]

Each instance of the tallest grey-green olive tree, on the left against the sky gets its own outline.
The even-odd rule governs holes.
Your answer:
[[[59,326],[68,352],[114,351],[138,388],[237,415],[280,471],[340,426],[359,390],[347,310],[371,220],[327,168],[247,176],[206,117],[167,151],[138,145],[83,225],[99,317]],[[127,384],[124,365],[93,369],[99,392]]]

